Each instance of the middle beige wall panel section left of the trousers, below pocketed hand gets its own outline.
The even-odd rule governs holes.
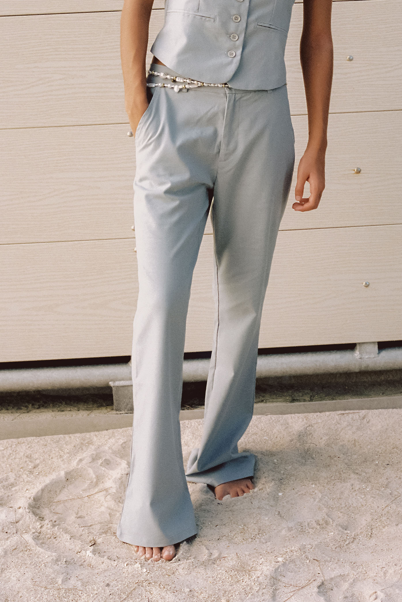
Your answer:
[[[128,125],[0,132],[1,243],[133,236],[134,138]]]

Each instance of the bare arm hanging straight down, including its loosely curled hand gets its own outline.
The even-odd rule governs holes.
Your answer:
[[[316,209],[325,188],[325,151],[333,75],[332,0],[303,0],[300,62],[306,92],[309,141],[297,170],[295,211]],[[310,196],[302,198],[304,184]]]

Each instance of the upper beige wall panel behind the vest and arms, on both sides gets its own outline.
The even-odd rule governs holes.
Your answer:
[[[401,11],[399,0],[334,4],[331,111],[402,108]],[[118,11],[0,19],[0,127],[127,123],[119,21]],[[306,113],[298,50],[302,21],[303,7],[295,4],[286,50],[294,114]],[[162,25],[163,11],[152,11],[149,48]],[[350,54],[353,61],[346,60]]]

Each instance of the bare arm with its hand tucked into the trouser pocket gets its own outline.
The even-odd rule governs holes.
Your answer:
[[[124,0],[120,22],[120,50],[125,110],[135,133],[148,107],[145,57],[154,0]]]

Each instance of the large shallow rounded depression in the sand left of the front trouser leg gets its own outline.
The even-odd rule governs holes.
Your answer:
[[[127,461],[98,450],[82,456],[71,470],[38,489],[30,511],[72,538],[82,534],[85,527],[97,533],[111,532],[121,511],[127,475]]]

